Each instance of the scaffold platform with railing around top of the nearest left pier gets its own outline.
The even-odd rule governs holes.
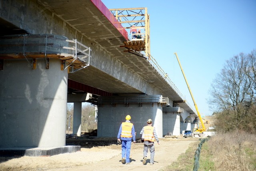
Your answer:
[[[38,58],[45,58],[49,69],[50,58],[59,59],[61,70],[74,73],[90,66],[92,49],[64,36],[52,34],[10,35],[0,37],[0,70],[4,70],[3,60],[26,59],[33,70]]]

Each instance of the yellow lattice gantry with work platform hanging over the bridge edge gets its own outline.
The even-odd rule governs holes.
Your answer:
[[[109,10],[116,17],[116,20],[127,29],[126,31],[128,33],[130,33],[131,29],[139,29],[141,31],[140,33],[130,33],[130,40],[120,46],[128,49],[124,50],[124,52],[138,52],[150,60],[150,24],[147,8],[119,8]]]

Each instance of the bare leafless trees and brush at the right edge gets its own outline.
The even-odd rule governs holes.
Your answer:
[[[256,50],[226,61],[210,87],[217,130],[256,133]]]

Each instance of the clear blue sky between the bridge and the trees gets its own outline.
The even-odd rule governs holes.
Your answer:
[[[102,0],[111,8],[148,8],[150,52],[202,116],[212,115],[210,85],[226,60],[256,49],[256,0]],[[196,110],[195,110],[196,111]]]

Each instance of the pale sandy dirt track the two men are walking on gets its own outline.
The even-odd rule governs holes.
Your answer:
[[[50,157],[0,157],[1,171],[20,170],[68,170],[68,171],[139,171],[150,169],[159,170],[176,161],[184,153],[189,144],[198,141],[198,138],[160,138],[160,145],[155,143],[154,165],[149,164],[150,153],[146,165],[142,164],[143,143],[138,140],[132,143],[130,165],[121,163],[121,145],[116,144],[116,138],[105,145],[100,138],[90,141],[78,141],[81,151],[65,153]],[[114,143],[109,143],[114,142]],[[198,141],[199,142],[199,141]],[[70,142],[71,143],[71,142]]]

